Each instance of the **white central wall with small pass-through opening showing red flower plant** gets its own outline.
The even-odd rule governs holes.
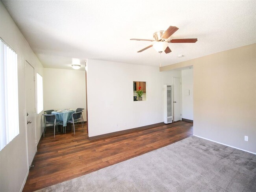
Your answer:
[[[89,137],[163,122],[163,85],[181,71],[87,61]],[[146,81],[147,100],[133,101],[133,81]]]

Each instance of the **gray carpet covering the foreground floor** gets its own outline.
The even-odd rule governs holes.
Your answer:
[[[256,155],[192,136],[38,191],[256,192]]]

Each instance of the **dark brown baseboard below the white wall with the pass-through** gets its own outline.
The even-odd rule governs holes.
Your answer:
[[[103,135],[96,135],[96,136],[93,136],[93,137],[89,137],[89,140],[115,137],[115,136],[124,135],[124,134],[127,134],[127,133],[132,133],[134,131],[141,131],[141,130],[145,130],[145,129],[150,129],[150,128],[161,126],[161,125],[165,125],[165,124],[163,122],[161,122],[161,123],[156,123],[156,124],[143,126],[143,127],[136,127],[136,128],[132,128],[132,129],[125,129],[125,130],[122,130],[122,131],[115,131],[115,132],[112,132],[112,133],[106,133],[106,134],[103,134]]]

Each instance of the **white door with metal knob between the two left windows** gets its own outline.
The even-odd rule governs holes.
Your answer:
[[[27,132],[27,150],[28,165],[30,166],[36,148],[36,131],[35,131],[35,81],[34,68],[26,61],[25,63],[25,83],[26,83],[26,132]]]

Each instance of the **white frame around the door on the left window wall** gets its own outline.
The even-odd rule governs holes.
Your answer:
[[[33,159],[35,158],[35,154],[37,153],[37,131],[36,131],[36,118],[35,118],[35,115],[36,115],[36,110],[35,110],[35,108],[34,108],[34,113],[35,113],[35,115],[34,115],[34,118],[33,118],[33,120],[34,120],[34,127],[33,127],[33,129],[35,130],[35,154],[34,154],[34,157],[33,157],[33,159],[32,159],[32,161],[31,162],[28,162],[29,160],[28,160],[28,124],[27,124],[27,92],[26,92],[26,64],[28,64],[28,65],[30,65],[32,68],[33,68],[33,79],[34,79],[34,81],[33,81],[33,85],[34,85],[34,106],[36,106],[36,103],[35,103],[35,68],[25,59],[25,63],[24,63],[24,81],[25,81],[25,86],[24,86],[24,90],[25,90],[25,110],[24,110],[24,116],[25,116],[25,127],[26,127],[26,151],[27,151],[27,163],[28,163],[28,168],[30,168],[30,165],[32,164],[32,162],[33,162]]]

